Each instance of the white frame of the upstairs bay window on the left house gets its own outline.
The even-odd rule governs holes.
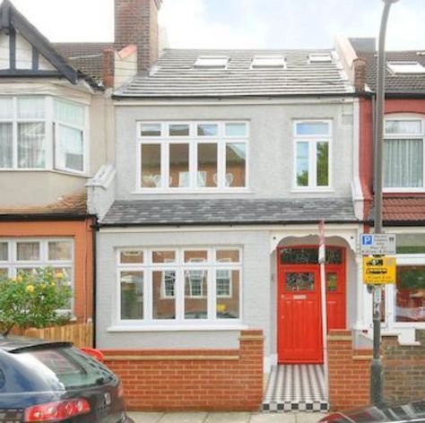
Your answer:
[[[62,99],[59,97],[53,96],[38,96],[38,95],[22,95],[22,96],[2,96],[4,99],[13,100],[13,118],[11,119],[1,119],[0,123],[12,124],[13,126],[13,163],[12,168],[0,168],[1,171],[7,172],[45,172],[46,170],[59,172],[59,173],[71,173],[76,175],[87,175],[89,172],[89,108],[86,103]],[[18,118],[18,99],[44,99],[45,103],[45,118],[44,119],[23,119]],[[69,125],[60,121],[56,121],[55,112],[54,112],[54,102],[55,100],[68,102],[76,106],[84,108],[84,125],[83,127]],[[44,142],[44,154],[45,154],[45,167],[44,168],[19,168],[18,167],[18,124],[20,123],[31,123],[31,122],[44,122],[45,125],[45,142]],[[57,126],[63,125],[71,127],[74,129],[82,130],[82,153],[83,153],[83,169],[82,171],[67,169],[67,168],[57,168],[56,167],[56,140],[57,140]]]

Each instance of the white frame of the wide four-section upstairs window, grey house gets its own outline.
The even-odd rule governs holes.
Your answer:
[[[142,125],[161,125],[161,136],[141,136]],[[226,124],[246,125],[245,136],[226,135]],[[169,125],[189,125],[189,135],[169,136]],[[197,125],[217,125],[217,135],[197,135]],[[189,186],[172,187],[169,177],[169,145],[173,143],[187,143],[189,146]],[[203,143],[217,144],[217,186],[199,186],[199,171],[197,162],[198,145]],[[229,178],[226,175],[226,146],[227,144],[245,144],[245,186],[229,186]],[[160,145],[160,175],[158,186],[142,186],[142,145]],[[205,193],[235,193],[249,190],[249,122],[247,120],[235,121],[139,121],[136,125],[136,180],[134,194],[205,194]],[[214,179],[215,180],[215,179]]]

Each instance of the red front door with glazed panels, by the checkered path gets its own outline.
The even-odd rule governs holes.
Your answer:
[[[345,250],[329,247],[325,265],[328,329],[345,327]],[[317,246],[278,251],[278,360],[323,363]]]

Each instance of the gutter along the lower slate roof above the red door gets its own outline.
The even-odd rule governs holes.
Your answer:
[[[241,225],[311,225],[319,220],[244,220],[244,221],[191,221],[191,222],[134,222],[134,223],[100,223],[99,228],[152,228],[152,227],[193,227],[193,226],[241,226]],[[327,224],[367,224],[369,220],[325,220]]]

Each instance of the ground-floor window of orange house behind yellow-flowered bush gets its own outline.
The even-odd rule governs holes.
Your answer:
[[[74,285],[74,241],[71,238],[13,238],[0,237],[0,280],[16,278],[22,273],[34,273],[51,267],[62,273],[64,283]],[[73,309],[71,299],[66,312]]]

